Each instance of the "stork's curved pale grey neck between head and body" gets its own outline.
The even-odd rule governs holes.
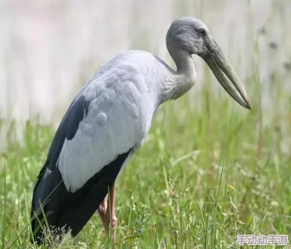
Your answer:
[[[170,52],[170,55],[176,64],[177,71],[170,74],[165,82],[166,101],[178,99],[187,93],[196,79],[195,63],[190,53],[176,51]]]

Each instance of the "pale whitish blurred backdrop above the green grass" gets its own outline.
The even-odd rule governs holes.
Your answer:
[[[264,111],[281,104],[284,112],[286,102],[272,101],[270,87],[280,75],[280,91],[291,90],[290,0],[0,0],[1,146],[6,121],[39,115],[58,125],[80,88],[122,51],[147,50],[174,67],[165,36],[181,16],[208,25],[250,97],[259,90],[246,81],[259,75]],[[195,62],[190,95],[197,100],[206,67]]]

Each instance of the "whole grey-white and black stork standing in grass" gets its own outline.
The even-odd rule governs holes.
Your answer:
[[[95,213],[116,241],[116,179],[143,145],[158,108],[194,86],[192,54],[207,63],[236,102],[251,110],[237,74],[202,21],[174,20],[166,46],[176,70],[153,53],[125,51],[101,67],[74,98],[33,189],[33,243],[43,244],[47,230],[55,237],[70,231],[74,237]]]

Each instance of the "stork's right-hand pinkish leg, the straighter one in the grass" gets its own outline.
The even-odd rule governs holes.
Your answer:
[[[108,228],[110,227],[110,224],[111,224],[111,236],[112,236],[113,243],[115,243],[115,241],[116,241],[114,230],[117,226],[117,218],[115,216],[114,207],[115,207],[115,182],[109,188],[109,198],[108,198],[108,202],[107,202],[107,211],[106,211]]]

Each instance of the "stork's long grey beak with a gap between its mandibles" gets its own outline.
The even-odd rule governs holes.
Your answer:
[[[223,54],[223,52],[219,49],[217,43],[212,38],[205,39],[205,45],[207,48],[207,53],[201,56],[207,65],[212,70],[213,74],[218,79],[221,86],[225,89],[225,91],[240,105],[245,107],[246,109],[252,109],[251,103],[248,100],[245,90],[236,75],[235,71],[233,70],[232,66],[230,65],[229,61]],[[234,90],[231,84],[228,82],[224,74],[230,79],[230,81],[234,84],[236,89],[238,90],[241,97],[238,93]]]

